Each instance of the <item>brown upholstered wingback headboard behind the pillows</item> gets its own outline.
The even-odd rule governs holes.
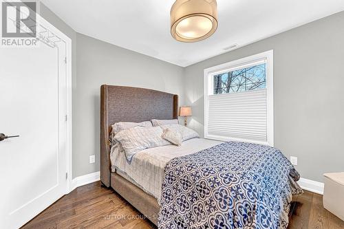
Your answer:
[[[100,87],[100,179],[109,187],[109,133],[115,122],[177,118],[178,95],[138,87]]]

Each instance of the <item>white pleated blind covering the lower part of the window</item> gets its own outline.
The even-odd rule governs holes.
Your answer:
[[[209,96],[208,135],[267,141],[266,89]]]

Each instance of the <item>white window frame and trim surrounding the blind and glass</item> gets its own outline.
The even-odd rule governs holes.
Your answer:
[[[257,65],[259,62],[266,63],[266,142],[246,140],[241,138],[228,138],[218,135],[208,135],[208,108],[209,101],[208,96],[213,95],[213,78],[215,75],[224,74],[226,72],[231,72],[236,69],[242,69],[244,67],[250,67],[252,65]],[[274,146],[274,81],[273,81],[273,50],[266,52],[261,52],[252,56],[247,56],[240,58],[235,61],[230,61],[222,65],[217,65],[214,67],[209,67],[204,69],[204,138],[221,140],[221,141],[241,141],[241,142],[252,142],[257,144],[266,144],[268,146]],[[237,93],[245,93],[237,92]],[[220,95],[220,94],[219,94]]]

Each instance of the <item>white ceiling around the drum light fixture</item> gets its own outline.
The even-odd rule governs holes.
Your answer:
[[[182,67],[344,10],[343,0],[217,0],[217,32],[180,43],[170,34],[174,0],[41,1],[76,32]]]

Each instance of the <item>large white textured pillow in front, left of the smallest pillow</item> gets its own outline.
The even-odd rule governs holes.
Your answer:
[[[118,132],[114,140],[120,142],[129,164],[136,153],[144,149],[165,146],[171,142],[164,140],[160,127],[133,127]]]

